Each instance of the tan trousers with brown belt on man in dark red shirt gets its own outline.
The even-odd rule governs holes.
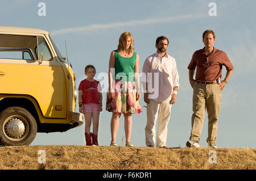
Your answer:
[[[207,142],[215,142],[218,130],[218,115],[221,107],[221,90],[217,83],[205,85],[196,83],[193,90],[193,115],[191,137],[200,140],[203,128],[205,108],[208,113],[208,138]]]

